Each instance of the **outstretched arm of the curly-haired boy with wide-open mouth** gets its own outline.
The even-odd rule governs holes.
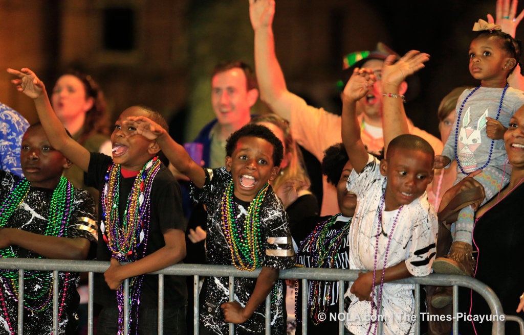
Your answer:
[[[184,147],[175,142],[160,125],[146,117],[129,117],[123,123],[135,128],[136,133],[134,134],[140,134],[149,140],[157,141],[160,149],[169,159],[169,163],[191,179],[196,187],[202,188],[204,186],[205,172],[202,167],[191,159]],[[131,136],[133,136],[133,133]]]

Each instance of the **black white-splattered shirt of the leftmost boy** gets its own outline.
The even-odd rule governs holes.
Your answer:
[[[20,177],[10,172],[0,171],[0,205],[11,193]],[[23,202],[9,217],[4,228],[17,228],[30,233],[45,235],[48,227],[49,206],[53,195],[52,189],[31,187]],[[70,219],[62,236],[68,238],[85,238],[96,243],[96,222],[94,201],[88,191],[73,189],[73,198],[70,204]],[[31,250],[19,246],[11,246],[10,250],[18,258],[41,258]],[[0,271],[0,289],[6,303],[7,313],[11,325],[16,329],[18,319],[18,285],[11,279],[18,278],[15,270]],[[64,310],[59,318],[60,333],[74,329],[77,318],[77,308],[80,301],[77,292],[80,274],[78,272],[59,272],[59,303],[64,299]],[[16,280],[17,282],[17,280]],[[65,295],[63,290],[67,282]],[[53,325],[53,294],[52,272],[25,271],[24,272],[24,334],[49,334]],[[0,313],[0,325],[5,325],[5,315]],[[0,327],[0,334],[8,334],[5,328]]]

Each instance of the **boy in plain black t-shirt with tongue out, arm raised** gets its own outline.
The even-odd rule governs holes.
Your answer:
[[[51,145],[87,172],[85,182],[101,194],[97,260],[111,261],[104,276],[96,275],[95,301],[103,306],[97,334],[124,329],[123,281],[129,278],[130,317],[133,333],[158,328],[158,278],[145,275],[185,257],[185,222],[180,188],[157,154],[158,144],[144,136],[130,136],[123,126],[128,117],[148,117],[167,129],[153,110],[129,107],[115,122],[111,134],[113,157],[90,153],[67,135],[54,113],[40,79],[28,68],[8,69],[17,89],[34,99]],[[121,262],[126,262],[121,264]],[[105,283],[104,283],[105,281]],[[181,276],[166,276],[163,331],[185,333],[187,289]]]

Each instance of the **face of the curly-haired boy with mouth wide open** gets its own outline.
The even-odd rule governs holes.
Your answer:
[[[238,199],[252,201],[267,181],[275,179],[279,167],[273,164],[273,146],[259,137],[239,138],[232,156],[226,156],[234,192]]]

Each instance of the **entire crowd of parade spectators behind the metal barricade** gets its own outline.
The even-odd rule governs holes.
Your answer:
[[[216,119],[191,146],[173,140],[162,115],[145,106],[122,111],[110,132],[102,90],[89,75],[64,73],[48,95],[29,68],[7,69],[39,122],[29,125],[0,104],[0,257],[107,261],[95,275],[97,334],[192,333],[193,294],[200,294],[202,334],[226,334],[231,324],[236,334],[261,334],[266,321],[272,334],[301,333],[301,322],[311,333],[335,333],[339,322],[321,314],[338,311],[342,291],[345,311],[358,316],[346,318],[346,335],[376,334],[379,315],[385,334],[413,334],[415,319],[398,317],[415,316],[413,285],[394,282],[432,272],[472,276],[494,290],[506,315],[522,316],[515,264],[524,233],[516,211],[524,192],[524,71],[515,31],[524,11],[517,15],[517,0],[497,0],[496,17],[475,23],[469,70],[479,85],[442,99],[440,139],[404,108],[409,78],[429,54],[399,55],[378,43],[347,55],[342,113],[332,114],[287,89],[275,53],[275,1],[249,5],[255,70],[217,64]],[[271,113],[251,114],[259,96]],[[322,162],[321,194],[311,189],[303,151]],[[205,277],[195,292],[192,278],[166,276],[159,315],[158,281],[146,274],[180,262],[260,272],[235,278],[233,300],[227,277]],[[280,270],[295,266],[360,272],[343,286],[279,280]],[[80,283],[80,273],[56,279],[25,271],[22,284],[16,269],[2,270],[0,334],[16,333],[20,285],[24,333],[53,331],[55,285],[58,333],[81,333]],[[449,287],[426,291],[429,313],[453,313]],[[490,314],[474,291],[459,297],[460,311]],[[450,325],[443,318],[423,326],[440,335]],[[491,327],[474,319],[459,329]],[[506,330],[518,325],[507,322]]]

